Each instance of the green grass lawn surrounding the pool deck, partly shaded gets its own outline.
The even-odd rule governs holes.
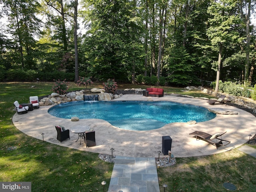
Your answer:
[[[28,102],[29,96],[51,94],[54,82],[0,83],[0,180],[32,182],[32,192],[96,192],[108,188],[112,163],[98,154],[61,147],[31,138],[12,124],[13,102]],[[32,86],[35,86],[32,88]],[[102,88],[92,84],[88,88]],[[121,84],[118,89],[146,88]],[[194,97],[213,96],[199,91],[182,92],[184,88],[163,87],[164,92],[188,94]],[[82,87],[70,83],[69,91]],[[250,134],[250,133],[248,133]],[[255,147],[254,145],[252,145]],[[160,191],[223,192],[224,182],[233,183],[237,190],[253,192],[256,188],[256,158],[234,149],[230,152],[203,157],[176,158],[171,167],[158,168]]]

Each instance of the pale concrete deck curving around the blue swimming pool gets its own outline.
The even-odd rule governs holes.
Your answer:
[[[60,146],[96,152],[101,154],[110,154],[110,148],[114,148],[113,155],[129,157],[158,157],[158,151],[162,152],[162,136],[172,138],[172,154],[174,157],[204,156],[226,152],[241,146],[248,142],[249,134],[256,133],[256,118],[241,109],[233,106],[225,106],[216,103],[214,106],[207,103],[206,100],[196,98],[186,98],[177,96],[164,96],[161,98],[145,97],[139,94],[126,94],[115,100],[152,100],[152,101],[172,101],[184,104],[193,104],[205,108],[223,108],[238,112],[238,115],[217,114],[216,118],[198,122],[194,125],[187,123],[170,123],[162,128],[149,131],[130,131],[112,126],[105,120],[100,119],[80,119],[72,122],[70,119],[63,119],[48,114],[48,109],[52,106],[41,106],[39,109],[29,111],[27,114],[13,116],[13,123],[18,130],[28,136]],[[114,100],[113,100],[114,101]],[[78,134],[70,131],[70,140],[59,142],[55,125],[63,125],[66,129],[71,129],[77,125],[87,125],[95,131],[96,146],[86,148],[84,142],[75,142]],[[143,126],[143,124],[141,125]],[[226,146],[216,149],[215,146],[202,140],[196,140],[190,133],[194,131],[207,132],[209,134],[226,132],[222,138],[231,141]],[[160,157],[167,155],[160,154]]]

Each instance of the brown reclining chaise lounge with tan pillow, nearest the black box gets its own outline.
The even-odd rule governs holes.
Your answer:
[[[202,131],[195,131],[193,133],[190,133],[190,135],[194,135],[194,138],[196,138],[196,140],[203,140],[205,142],[208,142],[208,143],[212,144],[213,146],[216,146],[216,148],[218,149],[220,146],[226,146],[227,144],[230,144],[230,141],[222,139],[222,135],[225,133],[226,132],[224,132],[222,134],[214,134],[212,136],[212,135],[202,132]],[[218,138],[218,137],[220,137],[220,138]]]

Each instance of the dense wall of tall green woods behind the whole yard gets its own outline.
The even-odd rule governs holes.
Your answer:
[[[256,82],[255,0],[0,3],[0,81]]]

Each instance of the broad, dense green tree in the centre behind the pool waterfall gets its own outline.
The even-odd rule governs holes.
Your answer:
[[[135,4],[127,0],[99,0],[87,4],[91,10],[87,17],[90,30],[84,46],[90,50],[92,72],[99,79],[124,81],[136,70],[143,69],[141,38],[144,29],[136,15]]]

